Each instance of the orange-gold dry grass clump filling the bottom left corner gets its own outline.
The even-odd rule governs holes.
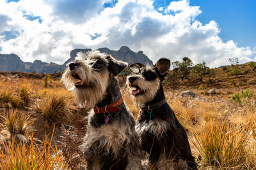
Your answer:
[[[30,146],[14,140],[1,143],[0,169],[68,169],[68,164],[51,141],[44,140],[42,146],[36,146],[31,139]]]

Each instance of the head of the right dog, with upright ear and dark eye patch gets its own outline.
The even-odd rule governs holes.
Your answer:
[[[130,65],[132,75],[127,76],[127,87],[137,104],[148,103],[156,96],[157,90],[170,69],[170,60],[161,58],[154,67],[141,63]]]

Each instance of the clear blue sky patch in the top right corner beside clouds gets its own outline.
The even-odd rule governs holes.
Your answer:
[[[198,16],[203,24],[215,20],[220,26],[220,37],[233,39],[239,46],[256,46],[255,0],[192,0],[191,5],[200,6]]]

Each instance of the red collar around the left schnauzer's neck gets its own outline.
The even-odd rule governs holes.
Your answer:
[[[123,103],[123,97],[121,96],[117,101],[115,101],[114,103],[111,103],[107,106],[103,106],[98,108],[97,106],[94,106],[93,110],[95,114],[99,114],[99,113],[105,113],[105,112],[117,112],[120,111],[120,108],[118,108],[118,106],[120,106],[120,104]]]

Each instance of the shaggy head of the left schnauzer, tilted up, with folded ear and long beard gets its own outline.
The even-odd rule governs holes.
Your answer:
[[[77,53],[74,61],[67,64],[61,81],[68,90],[73,90],[82,106],[92,108],[106,94],[109,76],[116,76],[126,62],[118,61],[99,51]]]

